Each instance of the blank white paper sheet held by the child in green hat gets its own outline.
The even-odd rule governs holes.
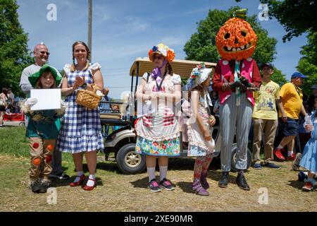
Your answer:
[[[37,98],[37,103],[31,107],[32,111],[61,109],[61,89],[31,90],[31,97]]]

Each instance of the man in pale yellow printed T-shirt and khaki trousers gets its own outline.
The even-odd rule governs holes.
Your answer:
[[[271,64],[262,66],[262,85],[259,91],[254,92],[254,110],[252,114],[254,123],[253,138],[253,165],[254,169],[262,169],[260,160],[260,149],[263,132],[265,134],[264,143],[264,167],[279,169],[272,161],[273,145],[276,129],[278,128],[278,111],[276,105],[284,112],[282,102],[280,101],[280,85],[271,81],[274,73]]]

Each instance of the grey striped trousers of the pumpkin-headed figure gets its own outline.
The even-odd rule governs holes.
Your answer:
[[[247,169],[247,145],[253,107],[251,102],[247,100],[246,93],[242,93],[240,98],[240,106],[236,106],[236,96],[232,92],[219,109],[220,135],[222,137],[220,160],[223,172],[230,172],[231,169],[231,149],[235,134],[237,139],[235,167]]]

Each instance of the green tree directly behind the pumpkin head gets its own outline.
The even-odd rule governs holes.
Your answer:
[[[185,44],[186,59],[217,62],[220,59],[220,55],[216,48],[216,35],[225,21],[232,18],[232,13],[237,8],[239,7],[232,7],[228,11],[217,9],[209,11],[206,19],[197,23],[197,32]],[[248,16],[246,20],[258,36],[256,50],[253,54],[256,63],[261,65],[272,62],[275,59],[275,45],[278,41],[273,37],[268,37],[268,32],[256,22],[256,15]]]

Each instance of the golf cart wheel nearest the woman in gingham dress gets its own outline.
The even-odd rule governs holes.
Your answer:
[[[145,167],[145,156],[135,153],[135,143],[128,143],[118,151],[117,165],[121,172],[125,174],[137,174]]]

